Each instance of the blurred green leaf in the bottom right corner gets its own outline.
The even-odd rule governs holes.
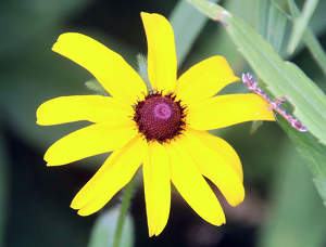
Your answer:
[[[258,246],[324,246],[326,211],[311,181],[311,172],[291,143],[285,142],[280,150],[269,192],[269,218]]]

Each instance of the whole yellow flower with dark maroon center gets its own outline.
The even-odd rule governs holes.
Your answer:
[[[112,152],[79,191],[71,207],[80,216],[101,209],[142,164],[149,235],[166,225],[171,181],[204,220],[225,223],[211,180],[231,206],[244,197],[237,153],[206,130],[251,120],[275,120],[255,94],[214,96],[239,81],[222,56],[210,57],[176,79],[173,29],[162,15],[141,13],[148,41],[148,75],[153,92],[117,53],[80,34],[63,34],[52,50],[88,69],[112,96],[61,96],[37,110],[42,126],[88,120],[47,151],[48,166],[61,166]]]

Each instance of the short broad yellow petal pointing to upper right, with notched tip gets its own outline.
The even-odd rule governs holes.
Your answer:
[[[212,56],[189,68],[177,80],[175,93],[188,106],[214,96],[225,86],[239,81],[227,61]]]

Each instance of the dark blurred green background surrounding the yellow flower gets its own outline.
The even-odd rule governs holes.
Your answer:
[[[260,1],[224,0],[221,4],[258,29]],[[304,1],[296,2],[302,8]],[[319,1],[310,22],[324,47],[325,2]],[[86,247],[92,225],[100,217],[100,213],[79,217],[68,206],[108,154],[53,168],[47,168],[42,160],[53,142],[87,123],[40,127],[35,123],[37,107],[57,96],[92,93],[84,86],[91,75],[51,51],[57,38],[66,31],[88,35],[136,68],[137,53],[147,53],[140,12],[170,17],[177,3],[174,0],[0,2],[0,246]],[[174,18],[175,27],[178,21]],[[221,23],[203,20],[202,26],[198,38],[187,47],[189,53],[180,64],[179,75],[216,54],[229,61],[237,76],[251,72]],[[301,67],[325,91],[325,75],[303,43],[291,56],[284,52],[290,28],[287,21],[280,54]],[[176,37],[181,37],[183,28],[176,27],[175,31],[178,31]],[[177,42],[176,49],[185,48]],[[239,92],[248,92],[241,82],[222,93]],[[165,230],[159,237],[149,238],[140,183],[130,208],[135,246],[326,246],[326,209],[312,173],[291,140],[275,122],[264,122],[254,134],[250,134],[250,128],[248,122],[214,131],[237,151],[244,172],[247,195],[237,208],[228,206],[216,190],[227,224],[210,225],[180,196],[173,194]],[[117,195],[105,209],[118,202]]]

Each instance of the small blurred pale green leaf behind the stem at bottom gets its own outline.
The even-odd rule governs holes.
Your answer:
[[[112,247],[117,218],[120,214],[120,207],[112,208],[109,211],[100,214],[99,219],[93,225],[88,247]],[[127,214],[124,222],[120,247],[134,246],[134,221]]]

